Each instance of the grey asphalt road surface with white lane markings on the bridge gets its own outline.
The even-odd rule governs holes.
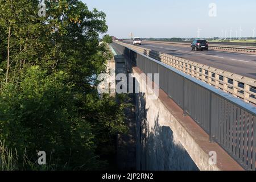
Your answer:
[[[124,43],[129,43],[124,41]],[[191,51],[190,47],[143,42],[139,47],[182,57],[210,67],[256,79],[256,55],[222,51]]]

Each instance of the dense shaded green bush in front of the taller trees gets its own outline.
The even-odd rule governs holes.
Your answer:
[[[55,169],[96,169],[90,125],[77,116],[72,85],[65,84],[64,79],[63,72],[47,76],[39,67],[31,67],[20,86],[3,86],[0,139],[31,163],[37,162],[38,151],[43,150]],[[19,167],[22,163],[19,158]]]

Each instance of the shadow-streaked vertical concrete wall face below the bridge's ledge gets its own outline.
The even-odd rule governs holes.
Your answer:
[[[135,76],[138,82],[141,78]],[[171,130],[174,119],[162,101],[149,100],[147,93],[135,96],[138,170],[198,170],[179,136]]]

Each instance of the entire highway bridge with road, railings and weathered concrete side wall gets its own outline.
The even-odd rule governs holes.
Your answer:
[[[140,86],[148,79],[155,82],[155,77],[140,74],[159,74],[157,100],[149,99],[148,85],[150,92],[139,87],[135,94],[138,170],[196,166],[255,171],[256,107],[251,101],[256,55],[234,50],[195,52],[186,45],[159,42],[142,46],[114,42],[111,47],[118,67],[133,73]],[[209,154],[214,152],[217,163],[210,164]]]

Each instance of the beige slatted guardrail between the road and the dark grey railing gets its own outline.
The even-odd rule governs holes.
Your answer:
[[[144,55],[162,61],[165,64],[179,69],[179,71],[196,77],[209,85],[224,90],[226,93],[230,93],[235,97],[241,98],[247,103],[256,105],[256,80],[253,78],[226,72],[221,69],[209,67],[204,64],[199,64],[194,61],[185,60],[180,57],[168,55],[151,49],[131,46],[121,42],[118,42],[118,44],[133,48],[138,52],[144,53]]]

